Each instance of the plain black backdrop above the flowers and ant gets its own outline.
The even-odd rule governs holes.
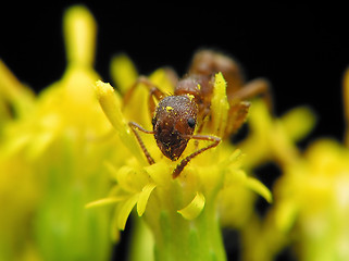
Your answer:
[[[111,80],[110,60],[119,52],[128,53],[142,74],[171,65],[180,75],[198,48],[216,48],[236,58],[248,79],[271,80],[277,115],[301,104],[314,110],[319,123],[308,141],[342,138],[347,7],[84,3],[99,26],[96,70],[104,80]],[[0,58],[36,91],[64,72],[62,15],[70,5],[15,3],[1,10]]]

